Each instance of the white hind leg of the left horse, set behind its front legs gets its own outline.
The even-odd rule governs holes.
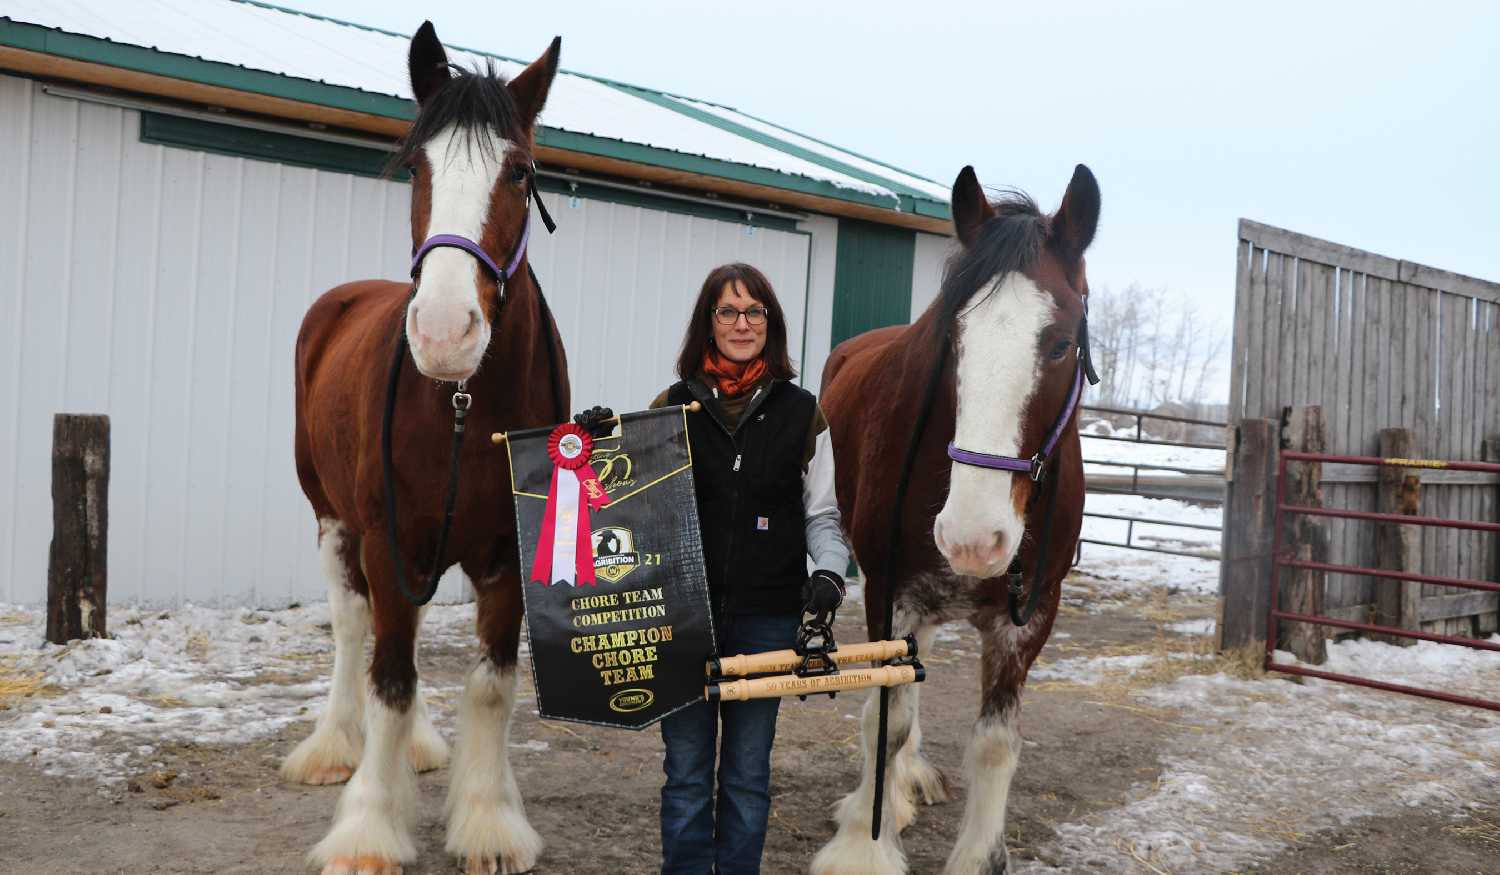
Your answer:
[[[340,783],[354,774],[364,749],[364,636],[370,608],[358,564],[360,539],[338,519],[318,521],[318,554],[328,582],[333,620],[333,689],[318,723],[282,762],[282,777],[298,783]]]

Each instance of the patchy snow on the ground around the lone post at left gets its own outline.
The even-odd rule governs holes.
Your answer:
[[[472,642],[472,605],[434,605],[423,644]],[[333,665],[327,623],[327,603],[120,608],[110,611],[114,638],[56,645],[39,611],[0,605],[0,677],[39,687],[0,710],[0,759],[118,782],[128,761],[164,741],[244,743],[312,719]],[[435,716],[446,710],[434,702]]]

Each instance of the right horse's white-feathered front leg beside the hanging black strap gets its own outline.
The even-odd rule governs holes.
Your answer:
[[[896,635],[930,626],[921,615],[897,609]],[[930,633],[922,633],[932,638]],[[921,650],[921,645],[918,645]],[[896,753],[910,741],[916,725],[916,684],[891,687],[890,716],[886,719],[886,750]],[[808,870],[813,875],[902,875],[906,872],[906,854],[900,846],[900,831],[916,819],[916,806],[908,786],[897,780],[894,762],[885,771],[885,789],[880,801],[880,839],[870,839],[870,813],[874,809],[874,759],[880,734],[880,696],[872,690],[861,716],[864,738],[864,767],[860,786],[843,797],[834,809],[838,831],[818,851]],[[896,756],[891,758],[892,761]]]

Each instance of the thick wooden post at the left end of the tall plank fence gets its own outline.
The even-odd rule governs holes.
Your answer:
[[[1218,648],[1263,648],[1276,510],[1276,422],[1240,420],[1230,434],[1226,462],[1228,492],[1220,545]]]

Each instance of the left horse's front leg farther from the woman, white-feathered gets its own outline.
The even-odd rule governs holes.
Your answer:
[[[364,702],[364,752],[333,816],[333,827],[308,855],[324,875],[399,875],[417,858],[411,839],[417,779],[411,731],[417,698],[417,608],[396,588],[386,539],[362,543],[375,617],[370,692]]]

